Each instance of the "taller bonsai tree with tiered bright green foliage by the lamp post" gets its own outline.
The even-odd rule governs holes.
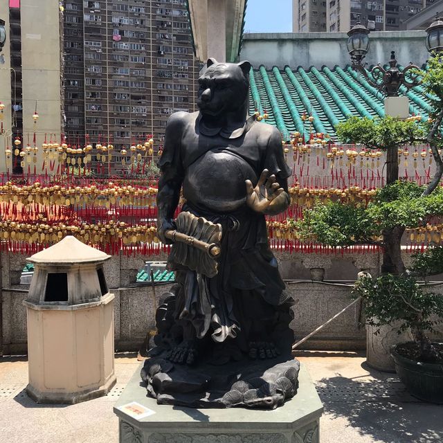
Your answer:
[[[383,273],[401,275],[406,267],[401,259],[401,237],[406,228],[424,226],[431,217],[443,215],[443,194],[438,188],[443,174],[443,64],[437,57],[420,71],[432,112],[428,121],[352,117],[336,127],[344,143],[362,143],[387,152],[386,186],[377,190],[367,207],[330,202],[306,210],[298,222],[302,237],[329,246],[376,244],[383,248]],[[405,144],[428,143],[436,170],[427,186],[400,182],[398,148]]]

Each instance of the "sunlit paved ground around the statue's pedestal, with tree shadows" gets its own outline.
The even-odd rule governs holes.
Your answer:
[[[320,443],[442,443],[443,406],[410,397],[395,374],[370,370],[353,352],[300,352],[325,414]],[[117,443],[112,406],[138,370],[132,354],[116,356],[117,384],[100,399],[73,406],[35,404],[24,392],[26,357],[0,358],[0,442]]]

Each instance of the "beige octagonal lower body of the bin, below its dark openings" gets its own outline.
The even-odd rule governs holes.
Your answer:
[[[28,316],[28,395],[75,404],[106,395],[114,373],[114,294],[97,302],[48,306],[24,301]]]

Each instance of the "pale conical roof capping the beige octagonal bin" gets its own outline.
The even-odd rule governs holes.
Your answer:
[[[60,242],[34,254],[26,260],[37,264],[56,265],[104,262],[110,257],[110,255],[80,242],[73,235],[67,235]]]

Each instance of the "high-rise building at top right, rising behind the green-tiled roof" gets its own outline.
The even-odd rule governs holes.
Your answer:
[[[358,21],[371,30],[400,30],[434,0],[293,0],[293,32],[347,32]]]

